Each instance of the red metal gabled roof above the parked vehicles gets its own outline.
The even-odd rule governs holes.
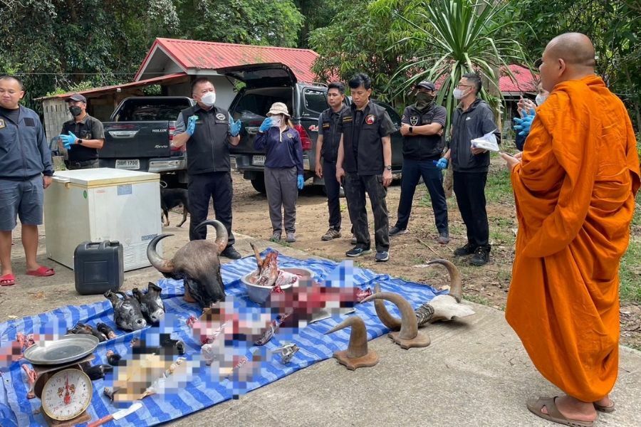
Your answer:
[[[318,58],[318,53],[311,49],[156,38],[145,60],[142,61],[135,79],[140,78],[157,47],[162,48],[162,51],[187,73],[189,70],[216,70],[235,65],[283,63],[291,68],[298,80],[313,82],[316,78],[311,68]]]

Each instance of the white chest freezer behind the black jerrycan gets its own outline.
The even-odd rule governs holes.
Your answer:
[[[147,267],[147,244],[161,233],[160,175],[110,168],[56,172],[45,191],[44,216],[47,256],[68,268],[85,241],[119,241],[125,271]]]

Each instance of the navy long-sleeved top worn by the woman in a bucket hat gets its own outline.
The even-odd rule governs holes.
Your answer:
[[[270,127],[256,136],[254,149],[267,149],[266,167],[296,167],[296,174],[303,174],[303,144],[298,130],[287,127],[281,140],[278,127]]]

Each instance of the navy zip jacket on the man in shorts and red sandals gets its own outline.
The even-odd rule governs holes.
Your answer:
[[[0,179],[24,181],[39,174],[53,175],[51,149],[40,117],[22,105],[18,122],[0,112]]]

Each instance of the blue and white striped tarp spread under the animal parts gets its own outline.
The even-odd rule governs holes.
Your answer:
[[[332,286],[345,286],[345,271],[353,271],[352,286],[366,289],[373,288],[375,283],[380,283],[382,290],[400,293],[405,297],[412,306],[418,307],[422,303],[429,301],[439,292],[433,288],[418,283],[406,282],[397,278],[390,278],[389,275],[380,275],[371,270],[362,268],[345,268],[345,263],[338,265],[328,260],[307,259],[299,260],[289,258],[285,255],[278,255],[278,265],[281,267],[304,267],[314,272],[314,278],[319,281],[330,283]],[[222,278],[225,283],[227,295],[234,295],[239,300],[246,299],[246,290],[241,283],[240,278],[256,268],[254,257],[246,257],[236,260],[233,263],[226,263],[222,266]],[[190,314],[198,315],[199,308],[195,304],[188,304],[182,299],[184,289],[182,281],[159,280],[158,285],[162,288],[162,299],[165,302],[167,315],[184,320]],[[260,307],[253,302],[246,303],[248,310],[260,311]],[[368,327],[368,337],[373,339],[387,332],[378,320],[374,305],[368,303],[357,305],[356,315],[359,315],[365,321]],[[390,312],[395,312],[396,308],[388,305]],[[275,349],[281,347],[285,342],[293,342],[300,351],[294,354],[293,359],[288,364],[282,364],[278,357],[269,362],[265,362],[261,367],[260,374],[254,378],[254,381],[246,384],[246,390],[251,391],[260,386],[269,384],[272,381],[281,379],[298,369],[303,369],[321,360],[332,357],[333,352],[345,349],[348,344],[350,329],[340,330],[334,334],[324,335],[343,318],[335,316],[327,320],[313,323],[299,330],[298,334],[288,339],[283,339],[281,334],[276,334],[270,342],[264,347]],[[41,315],[24,317],[17,320],[9,320],[0,324],[0,347],[6,347],[15,338],[17,332],[24,334],[38,333],[46,330],[46,327],[58,322],[65,328],[71,328],[77,322],[97,325],[98,322],[104,322],[111,327],[113,323],[113,309],[110,302],[95,302],[93,304],[81,305],[78,307],[68,305],[51,312],[42,313]],[[119,354],[128,354],[130,341],[140,334],[131,332],[123,334],[122,331],[116,330],[118,335],[115,339],[102,342],[95,351],[95,359],[92,364],[107,363],[106,352],[113,350]],[[174,325],[172,333],[173,338],[182,339],[187,347],[187,356],[199,354],[200,345],[192,338],[192,332],[184,322]],[[1,372],[2,387],[0,387],[0,425],[1,426],[41,426],[44,425],[43,416],[39,413],[40,399],[26,399],[28,385],[26,384],[26,374],[21,369],[21,364],[27,363],[21,360],[11,364],[9,371]],[[148,396],[142,399],[143,406],[135,413],[119,421],[113,421],[108,425],[111,426],[153,426],[157,423],[170,421],[189,413],[199,411],[222,401],[234,397],[234,391],[229,386],[229,380],[213,382],[207,379],[208,374],[200,372],[187,386],[180,389],[173,396]],[[117,411],[122,405],[114,406],[105,396],[103,396],[103,387],[107,384],[107,379],[93,381],[93,399],[88,408],[88,413],[92,420],[102,418],[110,413]],[[128,406],[128,405],[127,405]]]

